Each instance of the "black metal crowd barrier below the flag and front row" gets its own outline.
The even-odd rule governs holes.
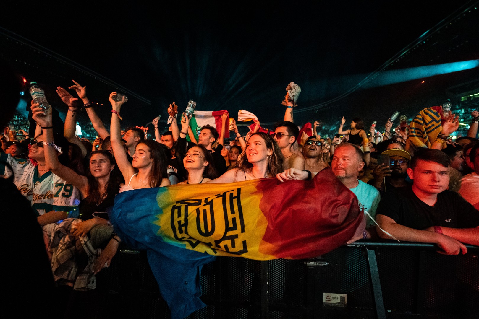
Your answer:
[[[479,318],[479,247],[467,247],[446,256],[433,244],[360,241],[305,260],[218,257],[202,271],[207,307],[186,318]],[[99,318],[170,318],[145,252],[121,250],[97,279],[108,305]]]

